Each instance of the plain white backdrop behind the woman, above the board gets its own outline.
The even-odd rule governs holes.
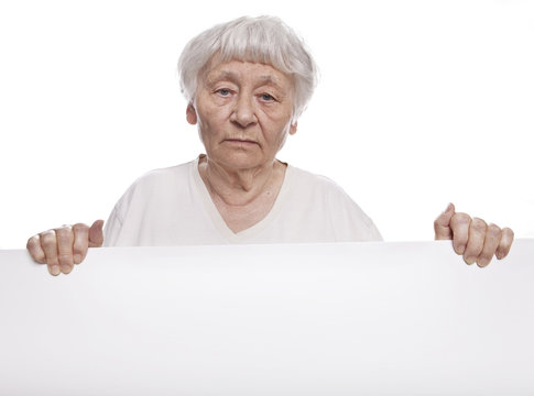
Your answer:
[[[350,4],[350,6],[349,6]],[[0,3],[0,249],[106,219],[146,170],[203,147],[175,64],[243,14],[281,16],[320,67],[280,158],[341,185],[385,240],[449,201],[534,237],[532,1]]]

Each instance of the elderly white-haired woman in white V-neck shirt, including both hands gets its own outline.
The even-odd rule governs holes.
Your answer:
[[[328,178],[276,160],[315,88],[303,42],[276,18],[240,18],[185,47],[181,84],[186,119],[206,154],[139,178],[102,232],[66,226],[32,237],[28,250],[51,274],[68,274],[88,248],[226,243],[377,241],[371,219]],[[486,266],[512,244],[510,229],[456,213],[435,221],[468,264]]]

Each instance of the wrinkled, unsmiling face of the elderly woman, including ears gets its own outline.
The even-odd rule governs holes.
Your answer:
[[[293,81],[272,66],[232,61],[199,79],[187,121],[198,123],[209,161],[229,170],[269,166],[292,124]]]

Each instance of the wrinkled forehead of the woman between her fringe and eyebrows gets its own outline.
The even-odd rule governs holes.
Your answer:
[[[293,85],[291,76],[280,72],[271,65],[241,61],[210,65],[205,73],[205,79],[208,84],[219,80],[270,84],[277,86],[281,89],[290,89]]]

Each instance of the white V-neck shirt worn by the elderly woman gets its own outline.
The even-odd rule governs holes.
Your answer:
[[[235,233],[198,173],[198,158],[149,172],[117,202],[106,246],[380,241],[380,232],[330,179],[287,166],[268,216]]]

